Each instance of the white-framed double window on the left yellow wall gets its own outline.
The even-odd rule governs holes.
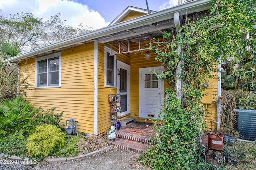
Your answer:
[[[36,87],[60,87],[60,53],[36,59]]]

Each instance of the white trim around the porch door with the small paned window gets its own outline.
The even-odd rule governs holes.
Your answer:
[[[150,117],[144,117],[143,115],[142,115],[142,105],[143,105],[143,95],[142,95],[142,89],[144,89],[144,79],[143,79],[143,77],[142,77],[142,72],[143,71],[149,71],[149,70],[161,70],[161,72],[164,70],[164,67],[162,67],[162,66],[156,66],[156,67],[147,67],[147,68],[139,68],[139,76],[140,76],[140,79],[139,79],[139,81],[140,81],[140,86],[139,86],[139,88],[140,88],[140,104],[139,104],[139,109],[140,109],[140,111],[139,111],[139,118],[140,119],[145,119],[145,118],[150,118]],[[162,93],[163,91],[164,91],[164,81],[161,81],[161,89],[160,89],[160,97],[161,97],[161,105],[164,105],[164,94]],[[159,106],[159,107],[161,107],[161,106]],[[154,119],[154,118],[151,118],[151,119]]]

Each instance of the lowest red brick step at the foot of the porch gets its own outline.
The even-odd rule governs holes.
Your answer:
[[[136,141],[128,141],[118,138],[116,138],[116,141],[110,141],[110,144],[114,147],[118,147],[124,150],[130,150],[132,152],[144,152],[149,147],[149,145],[147,144],[141,144]]]

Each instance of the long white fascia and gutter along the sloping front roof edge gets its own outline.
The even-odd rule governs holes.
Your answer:
[[[143,25],[148,25],[149,23],[167,20],[167,19],[173,18],[175,12],[179,12],[180,15],[184,15],[184,14],[190,14],[192,12],[200,12],[203,10],[208,10],[211,8],[211,5],[209,4],[209,2],[211,2],[211,1],[212,0],[195,0],[195,1],[187,2],[185,4],[180,4],[180,5],[174,6],[172,8],[167,8],[165,10],[147,14],[145,16],[134,18],[132,20],[124,21],[121,23],[110,25],[108,27],[90,31],[90,32],[84,33],[82,35],[78,35],[76,37],[65,39],[63,41],[59,41],[57,43],[50,44],[45,47],[35,49],[28,53],[24,53],[21,55],[17,55],[15,57],[11,57],[9,59],[4,60],[3,62],[4,63],[16,62],[19,60],[26,59],[28,57],[33,57],[33,56],[41,54],[41,53],[53,51],[55,49],[60,49],[60,48],[71,46],[71,45],[74,45],[77,43],[90,41],[93,39],[98,39],[100,37],[104,37],[104,36],[107,36],[107,35],[110,35],[113,33],[118,33],[121,31],[125,31],[128,29],[132,29],[134,27],[140,27]]]

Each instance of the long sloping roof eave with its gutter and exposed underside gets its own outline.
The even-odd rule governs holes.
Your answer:
[[[90,41],[98,41],[99,43],[107,43],[113,41],[123,41],[133,39],[136,37],[143,37],[151,35],[153,37],[160,37],[164,31],[173,29],[174,13],[179,12],[180,16],[191,14],[194,12],[201,12],[211,8],[209,2],[212,0],[194,0],[172,8],[167,8],[158,12],[146,14],[144,16],[134,18],[132,20],[115,23],[107,27],[97,29],[11,57],[4,60],[7,62],[18,62],[25,59],[48,55],[50,53],[58,52],[63,49],[75,47]],[[182,18],[181,18],[182,19]]]

